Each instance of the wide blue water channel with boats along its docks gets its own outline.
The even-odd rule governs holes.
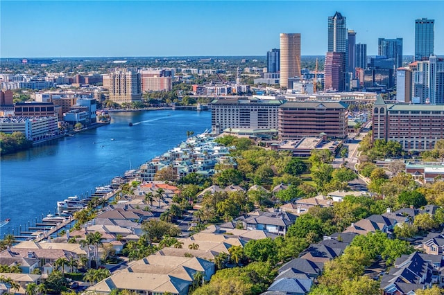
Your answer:
[[[137,111],[111,113],[109,125],[67,136],[33,149],[2,157],[0,162],[0,228],[17,235],[69,196],[91,194],[96,186],[176,147],[211,127],[210,111]],[[133,123],[130,127],[128,123]],[[114,138],[114,140],[112,140]]]

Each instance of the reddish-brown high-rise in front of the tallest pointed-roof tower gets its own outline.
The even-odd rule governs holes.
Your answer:
[[[344,91],[343,52],[327,52],[324,66],[324,89],[326,91]]]

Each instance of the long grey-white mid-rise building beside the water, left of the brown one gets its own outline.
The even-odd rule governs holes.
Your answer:
[[[212,133],[228,128],[278,129],[282,100],[216,99],[211,102]]]

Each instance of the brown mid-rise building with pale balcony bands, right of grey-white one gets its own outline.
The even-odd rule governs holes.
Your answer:
[[[337,101],[285,102],[279,107],[280,140],[327,136],[345,138],[348,105]]]

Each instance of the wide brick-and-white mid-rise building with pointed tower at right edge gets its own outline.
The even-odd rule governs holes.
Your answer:
[[[373,140],[398,141],[404,150],[432,150],[444,138],[444,105],[373,105]]]

